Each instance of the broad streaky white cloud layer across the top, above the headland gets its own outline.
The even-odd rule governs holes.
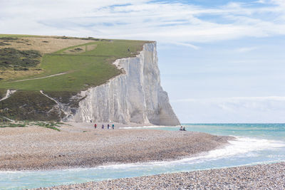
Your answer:
[[[285,35],[284,1],[267,4],[204,8],[147,0],[1,1],[0,33],[138,38],[197,48],[193,43]]]

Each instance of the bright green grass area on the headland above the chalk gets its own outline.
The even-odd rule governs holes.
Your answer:
[[[96,41],[89,43],[97,45],[92,51],[67,54],[63,53],[64,50],[62,50],[49,53],[44,55],[41,61],[41,68],[43,68],[44,73],[1,81],[0,88],[59,91],[85,90],[90,86],[103,84],[108,79],[120,74],[120,70],[112,63],[118,58],[135,56],[142,49],[143,43],[142,41]],[[42,78],[58,73],[66,74]],[[42,79],[14,82],[31,78]]]

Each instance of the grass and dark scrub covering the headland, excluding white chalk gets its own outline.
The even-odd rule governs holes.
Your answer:
[[[81,90],[106,83],[119,75],[112,63],[138,55],[147,41],[25,36],[0,34],[0,99],[6,90],[17,90],[0,102],[1,116],[16,120],[59,120],[56,102],[72,104]]]

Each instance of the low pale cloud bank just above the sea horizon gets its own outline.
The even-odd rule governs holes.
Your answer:
[[[182,122],[285,122],[285,97],[219,97],[172,101]]]

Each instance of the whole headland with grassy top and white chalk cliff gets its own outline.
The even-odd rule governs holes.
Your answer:
[[[156,43],[0,34],[1,120],[179,125]]]

